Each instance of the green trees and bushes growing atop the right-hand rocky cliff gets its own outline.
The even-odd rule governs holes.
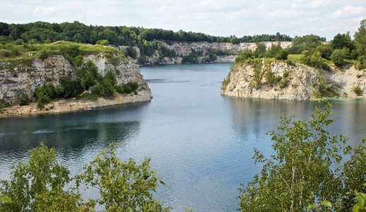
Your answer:
[[[236,63],[247,62],[255,58],[275,58],[285,60],[288,54],[298,54],[300,62],[317,69],[329,70],[327,61],[342,68],[348,63],[355,64],[358,69],[366,69],[366,19],[360,23],[360,28],[353,36],[350,33],[338,33],[331,42],[324,42],[323,37],[317,35],[305,35],[294,37],[293,45],[283,49],[281,45],[272,45],[266,48],[261,42],[257,42],[254,51],[244,50],[236,59]]]

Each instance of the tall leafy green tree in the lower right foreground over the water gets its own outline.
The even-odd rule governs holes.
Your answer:
[[[342,192],[339,163],[348,153],[346,137],[326,131],[333,119],[331,105],[315,108],[306,121],[281,117],[279,131],[270,131],[274,154],[266,158],[255,149],[255,163],[264,163],[261,175],[240,188],[242,211],[305,211],[308,204],[330,201],[337,208]],[[313,196],[313,199],[309,199]]]

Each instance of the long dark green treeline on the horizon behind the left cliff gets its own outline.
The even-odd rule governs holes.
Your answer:
[[[179,30],[146,29],[126,26],[98,26],[85,25],[78,21],[73,23],[35,23],[15,24],[0,23],[0,42],[49,43],[58,40],[96,44],[100,40],[107,40],[111,45],[134,46],[139,43],[153,40],[175,42],[266,42],[291,41],[288,35],[254,35],[236,37],[218,37],[204,33],[192,33]]]

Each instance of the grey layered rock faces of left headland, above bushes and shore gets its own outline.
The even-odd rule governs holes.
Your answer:
[[[98,66],[98,71],[105,76],[108,70],[112,69],[116,73],[117,84],[127,83],[129,81],[137,82],[148,99],[151,97],[148,84],[143,80],[138,64],[125,59],[114,59],[114,63],[102,54],[88,54],[83,56],[83,62],[90,59]],[[117,61],[117,62],[116,62]],[[76,76],[76,69],[62,55],[52,55],[47,59],[35,59],[27,67],[18,67],[9,63],[0,61],[0,99],[8,102],[17,100],[22,93],[32,98],[35,88],[46,83],[54,86],[59,85],[61,78]]]

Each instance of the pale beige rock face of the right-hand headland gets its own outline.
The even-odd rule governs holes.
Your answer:
[[[270,72],[270,73],[268,73]],[[236,65],[221,87],[223,95],[244,98],[306,100],[319,98],[319,86],[338,97],[356,97],[353,89],[360,87],[366,95],[366,76],[351,66],[346,71],[319,71],[303,64],[274,61],[261,69],[251,64]]]

